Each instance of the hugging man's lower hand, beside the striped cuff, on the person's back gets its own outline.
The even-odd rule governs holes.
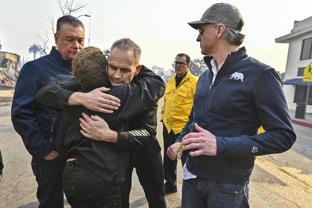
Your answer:
[[[117,132],[110,130],[104,119],[98,115],[89,117],[85,113],[82,113],[82,116],[85,118],[79,119],[82,135],[96,141],[117,143]]]

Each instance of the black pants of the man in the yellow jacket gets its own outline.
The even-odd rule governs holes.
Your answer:
[[[163,170],[165,174],[165,186],[168,189],[177,188],[177,163],[178,160],[171,160],[167,155],[167,149],[172,144],[175,143],[175,140],[180,136],[180,133],[174,134],[171,130],[168,133],[166,126],[163,124]],[[186,152],[183,152],[181,162],[182,166],[186,162],[188,155]]]

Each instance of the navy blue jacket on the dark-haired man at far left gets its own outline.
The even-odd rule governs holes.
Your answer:
[[[11,118],[27,151],[41,159],[53,151],[62,111],[39,103],[41,87],[73,78],[71,61],[52,47],[49,55],[27,62],[21,69],[12,101]]]

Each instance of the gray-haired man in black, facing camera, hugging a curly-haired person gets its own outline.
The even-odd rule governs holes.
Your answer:
[[[146,67],[138,65],[139,58],[139,46],[133,41],[127,38],[115,41],[111,47],[108,67],[110,84],[113,86],[123,84],[133,86],[133,84],[129,85],[129,83],[135,83],[142,90],[142,94],[137,99],[146,99],[148,97],[157,101],[163,95],[165,85],[159,76],[155,75]],[[146,73],[147,75],[140,79],[138,75],[142,73]],[[161,80],[161,84],[159,79]],[[97,99],[99,94],[103,94],[100,91],[107,91],[107,89],[95,89],[89,93],[73,92],[78,89],[80,89],[80,85],[77,84],[76,80],[63,84],[50,85],[38,92],[37,99],[48,106],[63,109],[66,109],[67,105],[84,105],[88,109],[95,111],[113,112],[104,108],[109,107],[110,109],[114,109],[112,105],[118,106],[114,102],[118,100],[115,97],[110,96],[110,99],[114,100],[110,102],[110,105],[101,104],[103,101]],[[155,95],[145,95],[146,90],[148,92],[151,90],[156,91],[157,93]],[[129,108],[129,110],[131,109]],[[113,131],[98,116],[93,116],[91,119],[88,115],[83,114],[85,120],[80,119],[83,129],[82,133],[85,137],[116,143],[115,149],[119,150],[135,149],[130,152],[130,162],[125,175],[125,182],[121,184],[122,207],[129,207],[129,192],[131,189],[133,167],[136,168],[140,183],[149,202],[149,207],[166,207],[163,187],[163,164],[160,155],[161,148],[155,138],[157,125],[156,113],[157,104],[148,111],[137,114],[135,116],[136,118],[131,118],[130,129],[133,129],[132,131]]]

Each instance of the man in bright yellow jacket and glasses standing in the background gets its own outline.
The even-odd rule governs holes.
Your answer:
[[[163,97],[163,108],[160,121],[163,122],[163,169],[165,173],[165,192],[177,192],[177,159],[171,160],[167,155],[167,148],[175,143],[182,128],[188,121],[193,98],[196,90],[197,76],[191,74],[190,57],[184,53],[176,56],[173,75],[166,84]],[[181,158],[182,165],[187,155]]]

